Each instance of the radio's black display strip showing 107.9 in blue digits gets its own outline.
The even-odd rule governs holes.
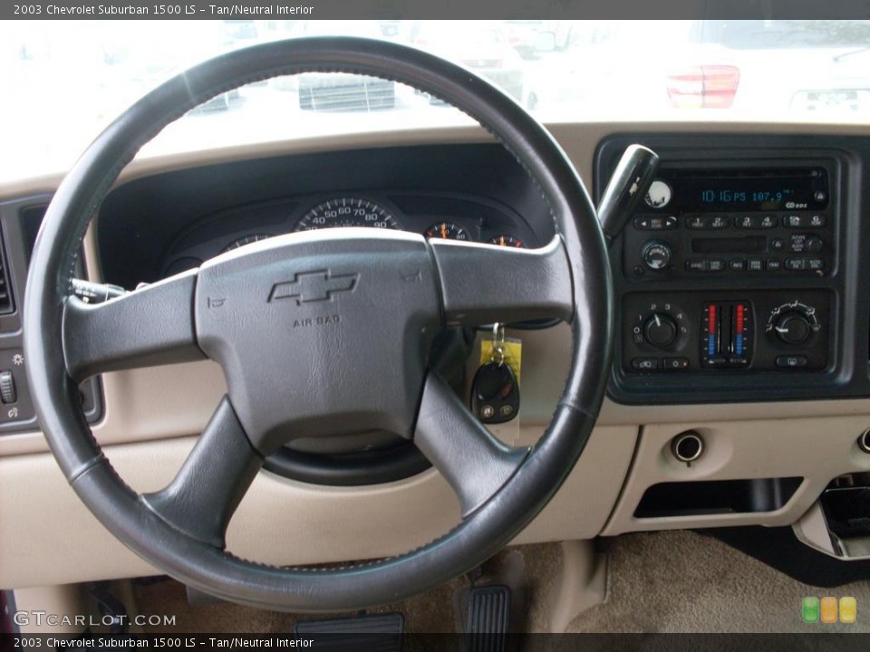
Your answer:
[[[822,210],[829,201],[825,168],[666,170],[647,205],[670,212]],[[662,197],[668,197],[662,203]]]

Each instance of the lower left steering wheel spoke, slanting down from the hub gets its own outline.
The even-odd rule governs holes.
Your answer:
[[[175,529],[216,548],[263,465],[227,397],[169,485],[142,500]]]

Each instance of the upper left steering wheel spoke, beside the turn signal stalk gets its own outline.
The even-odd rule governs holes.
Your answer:
[[[192,270],[105,303],[69,297],[63,307],[63,356],[70,377],[200,360],[193,321]]]

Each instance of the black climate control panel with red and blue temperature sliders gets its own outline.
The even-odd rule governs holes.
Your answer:
[[[632,292],[622,366],[631,374],[794,373],[830,364],[831,292]]]

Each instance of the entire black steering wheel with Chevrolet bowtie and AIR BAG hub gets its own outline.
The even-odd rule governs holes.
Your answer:
[[[240,85],[299,72],[403,82],[467,112],[527,169],[556,236],[506,249],[381,229],[278,236],[100,304],[71,295],[76,253],[127,163],[171,121]],[[63,179],[36,243],[24,350],[40,424],[67,480],[121,542],[219,598],[295,611],[395,601],[487,560],[556,493],[594,426],[612,346],[613,289],[594,207],[565,153],[504,93],[428,53],[359,38],[265,43],[202,63],[134,104]],[[428,369],[446,328],[560,318],[573,350],[536,446],[504,446]],[[568,355],[568,351],[565,351]],[[104,371],[208,357],[227,379],[179,474],[137,494],[82,415],[77,385]],[[294,437],[372,429],[412,439],[459,497],[462,520],[398,557],[277,568],[226,551],[263,460]]]

